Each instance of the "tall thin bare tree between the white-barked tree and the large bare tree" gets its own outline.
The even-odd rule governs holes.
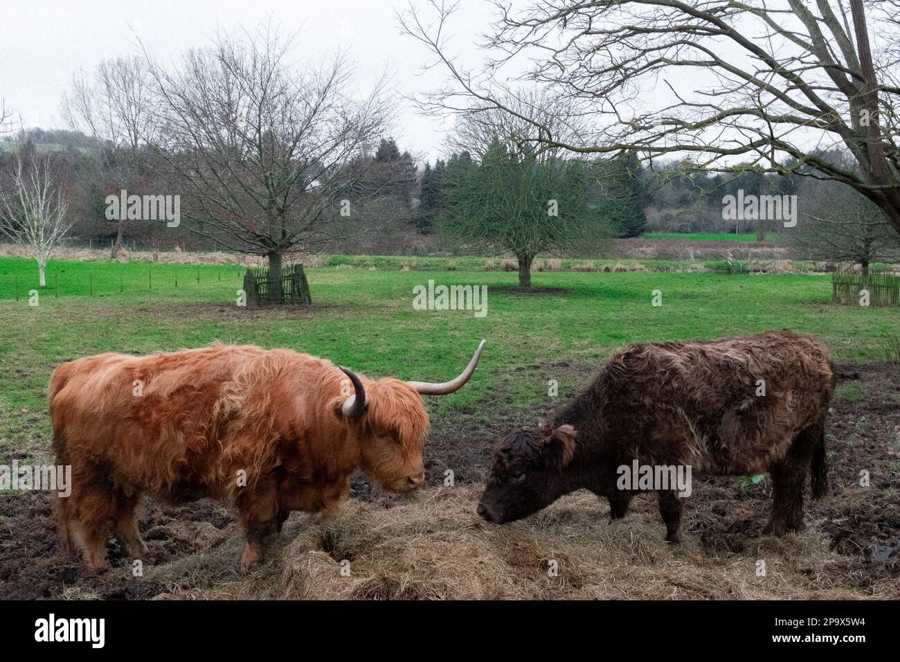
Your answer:
[[[150,77],[146,60],[140,57],[108,59],[100,62],[92,77],[78,70],[71,88],[63,95],[62,112],[76,131],[94,138],[95,168],[89,173],[118,193],[132,189],[141,177],[141,152],[152,127]],[[116,225],[112,258],[121,248],[125,214]]]

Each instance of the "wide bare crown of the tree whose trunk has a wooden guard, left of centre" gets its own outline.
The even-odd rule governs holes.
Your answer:
[[[392,108],[383,80],[360,96],[345,60],[294,65],[292,53],[292,39],[263,29],[220,34],[172,69],[150,65],[153,147],[184,186],[188,229],[266,256],[272,273],[285,252],[333,236],[336,207],[365,177],[368,161],[356,157]]]

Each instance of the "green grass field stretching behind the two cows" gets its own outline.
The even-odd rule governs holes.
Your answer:
[[[33,262],[0,259],[0,436],[46,425],[45,389],[58,363],[104,351],[146,354],[202,347],[213,340],[285,347],[331,358],[370,376],[454,376],[482,338],[489,340],[470,387],[429,404],[433,413],[495,399],[522,408],[546,401],[546,378],[516,367],[559,362],[599,366],[620,345],[644,340],[711,339],[790,328],[822,338],[842,362],[881,360],[900,310],[838,307],[822,276],[683,273],[536,273],[549,293],[516,293],[516,274],[485,271],[308,269],[311,310],[255,310],[236,304],[236,267],[55,262],[48,287],[30,305]],[[58,297],[54,288],[59,275]],[[20,300],[15,301],[15,277]],[[177,277],[178,286],[175,286]],[[488,313],[412,309],[412,288],[429,279],[488,287]],[[90,295],[93,280],[94,295]],[[121,290],[121,291],[120,291]],[[653,290],[662,306],[652,305]],[[560,384],[565,398],[584,384]]]

